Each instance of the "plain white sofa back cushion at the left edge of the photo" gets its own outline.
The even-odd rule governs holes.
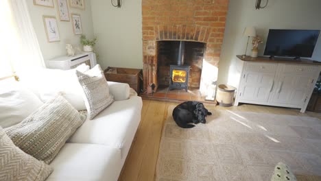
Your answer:
[[[8,128],[20,123],[36,111],[43,102],[14,80],[0,81],[0,126]]]

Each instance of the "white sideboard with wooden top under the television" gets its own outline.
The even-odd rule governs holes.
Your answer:
[[[235,106],[242,102],[300,108],[300,112],[305,112],[321,71],[320,64],[237,57],[242,71]]]

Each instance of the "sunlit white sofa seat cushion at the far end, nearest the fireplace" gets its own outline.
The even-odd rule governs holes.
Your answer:
[[[141,97],[137,96],[115,101],[95,119],[86,119],[67,142],[107,145],[121,149],[121,156],[126,156],[141,121],[142,106]]]

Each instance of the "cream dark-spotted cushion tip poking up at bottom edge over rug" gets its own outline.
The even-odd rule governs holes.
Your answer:
[[[296,176],[294,176],[289,166],[283,162],[278,162],[274,168],[271,181],[296,181]]]

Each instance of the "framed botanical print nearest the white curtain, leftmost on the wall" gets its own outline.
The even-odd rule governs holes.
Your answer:
[[[45,25],[45,31],[47,34],[47,40],[49,43],[60,41],[59,29],[57,25],[57,19],[55,16],[43,16],[43,24]]]

